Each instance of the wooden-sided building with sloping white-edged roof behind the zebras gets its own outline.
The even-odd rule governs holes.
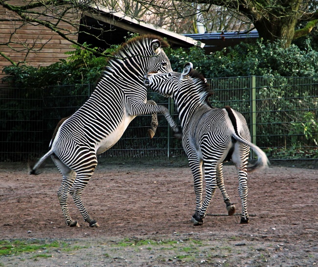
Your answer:
[[[24,0],[11,0],[11,3],[25,5]],[[39,8],[34,10],[41,11]],[[23,22],[19,21],[19,16],[14,12],[8,12],[3,6],[0,6],[0,79],[4,76],[2,73],[3,67],[12,65],[8,58],[15,63],[25,62],[29,66],[48,66],[68,57],[65,52],[72,49],[70,48],[71,41],[78,43],[87,42],[93,47],[107,49],[111,45],[118,45],[124,42],[125,37],[131,32],[159,35],[162,38],[166,38],[172,47],[189,48],[198,44],[198,41],[191,37],[137,21],[123,13],[110,12],[110,10],[101,7],[98,8],[98,12],[75,13],[75,15],[69,15],[67,19],[68,22],[80,23],[81,25],[79,31],[77,31],[67,21],[59,21],[59,27],[63,29],[62,33],[69,40],[44,25],[23,24]],[[45,20],[54,22],[54,19],[49,17],[46,17]],[[83,26],[84,24],[86,26]],[[98,31],[94,25],[102,26],[104,31]],[[94,38],[94,36],[99,36],[99,38]],[[8,43],[9,46],[6,45]],[[204,46],[200,42],[199,45],[201,47]]]

